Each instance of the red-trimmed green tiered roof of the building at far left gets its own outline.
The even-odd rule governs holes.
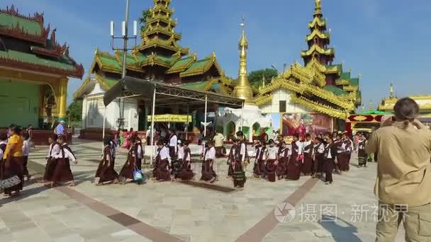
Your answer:
[[[51,33],[50,33],[51,32]],[[69,46],[55,40],[43,14],[23,16],[13,5],[0,9],[0,65],[82,78],[82,64],[69,57]],[[49,35],[49,36],[48,36]]]

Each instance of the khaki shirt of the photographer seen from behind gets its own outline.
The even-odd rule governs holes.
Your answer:
[[[371,135],[366,153],[379,151],[374,193],[381,202],[411,207],[431,202],[431,131],[402,122]]]

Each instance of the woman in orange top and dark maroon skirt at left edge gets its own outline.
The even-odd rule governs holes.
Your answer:
[[[24,175],[21,167],[23,165],[23,139],[19,136],[20,132],[21,129],[18,126],[9,126],[9,141],[3,154],[3,162],[1,162],[1,179],[17,176],[21,180],[21,183],[4,189],[4,194],[9,197],[12,192],[19,195],[23,190]]]

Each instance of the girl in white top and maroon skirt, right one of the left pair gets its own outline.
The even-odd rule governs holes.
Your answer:
[[[66,144],[66,137],[61,134],[57,139],[60,146],[60,155],[57,156],[57,164],[55,165],[54,173],[52,174],[51,187],[57,185],[57,183],[69,182],[69,186],[74,186],[74,178],[72,170],[70,169],[70,161],[77,163],[77,159],[74,156],[72,149]]]

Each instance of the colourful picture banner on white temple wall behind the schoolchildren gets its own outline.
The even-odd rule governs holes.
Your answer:
[[[280,126],[283,137],[299,134],[300,139],[305,139],[308,133],[314,138],[317,134],[332,132],[333,120],[322,113],[284,113]]]

